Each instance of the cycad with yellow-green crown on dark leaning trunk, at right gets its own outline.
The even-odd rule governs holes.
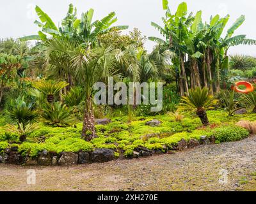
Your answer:
[[[209,119],[207,117],[206,110],[213,109],[216,103],[217,100],[209,94],[208,89],[205,87],[203,89],[196,87],[195,89],[189,90],[188,96],[182,97],[179,110],[195,111],[202,124],[204,124],[204,126],[208,126]]]

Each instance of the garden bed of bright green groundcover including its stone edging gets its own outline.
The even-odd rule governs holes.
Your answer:
[[[255,120],[256,114],[227,117],[225,112],[209,111],[211,126],[202,127],[200,120],[185,115],[176,121],[172,115],[127,117],[98,124],[97,138],[91,142],[81,139],[81,126],[51,128],[40,124],[19,143],[19,136],[0,129],[0,162],[27,165],[70,165],[101,163],[113,159],[132,159],[152,154],[173,154],[200,144],[242,140],[249,131],[236,126],[239,120]]]

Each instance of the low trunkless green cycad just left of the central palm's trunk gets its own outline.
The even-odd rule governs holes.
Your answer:
[[[45,124],[54,127],[72,126],[77,122],[72,113],[72,108],[68,108],[60,102],[45,103],[42,118]]]

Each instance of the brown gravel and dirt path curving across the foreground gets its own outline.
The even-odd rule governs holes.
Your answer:
[[[29,169],[36,184],[26,183]],[[221,171],[225,170],[225,171]],[[220,184],[227,172],[227,184]],[[256,137],[159,156],[70,167],[0,164],[1,191],[255,190]]]

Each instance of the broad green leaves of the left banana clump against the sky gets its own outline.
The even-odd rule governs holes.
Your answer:
[[[81,18],[77,18],[77,9],[73,4],[68,7],[68,12],[65,18],[61,21],[61,27],[57,27],[52,19],[39,6],[35,8],[40,21],[36,20],[35,24],[40,27],[37,35],[25,36],[20,38],[20,41],[41,40],[47,41],[49,38],[67,37],[71,40],[79,40],[86,46],[97,43],[97,36],[100,33],[108,31],[109,27],[117,20],[115,12],[109,13],[101,20],[92,22],[94,10],[90,9],[82,13]],[[115,26],[118,29],[127,29],[128,26]]]

